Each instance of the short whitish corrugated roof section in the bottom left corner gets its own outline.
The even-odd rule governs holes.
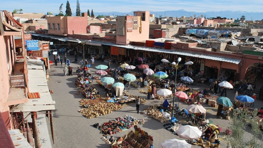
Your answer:
[[[18,129],[9,130],[9,134],[15,148],[32,148],[32,146],[27,142],[27,139]]]

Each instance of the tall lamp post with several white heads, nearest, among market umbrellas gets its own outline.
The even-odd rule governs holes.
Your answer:
[[[174,81],[174,97],[173,97],[172,117],[174,117],[174,102],[175,102],[175,92],[176,92],[177,69],[181,69],[181,67],[184,66],[184,65],[192,65],[192,64],[193,64],[192,61],[188,61],[188,62],[186,62],[186,63],[184,63],[184,64],[179,65],[179,62],[180,62],[181,60],[182,60],[182,59],[181,59],[180,57],[177,59],[177,63],[176,63],[176,62],[172,62],[172,63],[171,63],[171,62],[169,62],[169,61],[166,60],[166,59],[162,59],[162,60],[161,60],[162,62],[172,64],[172,66],[173,66],[174,69],[175,69],[175,81]]]

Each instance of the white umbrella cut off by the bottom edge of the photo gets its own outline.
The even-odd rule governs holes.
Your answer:
[[[162,148],[191,148],[191,144],[187,143],[185,140],[171,139],[165,140],[161,144]]]

